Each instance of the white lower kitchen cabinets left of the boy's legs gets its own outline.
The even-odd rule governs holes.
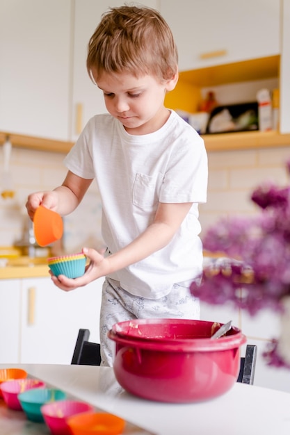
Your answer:
[[[103,281],[66,293],[47,277],[1,280],[0,363],[70,364],[80,328],[99,342]]]

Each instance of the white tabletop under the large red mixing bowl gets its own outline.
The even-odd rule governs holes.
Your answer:
[[[159,435],[289,435],[290,394],[236,383],[202,403],[165,404],[126,393],[113,369],[22,364],[33,377]],[[8,368],[8,365],[0,365]],[[279,369],[277,369],[279,370]]]

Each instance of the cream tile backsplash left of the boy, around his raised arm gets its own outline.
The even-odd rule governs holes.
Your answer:
[[[63,165],[64,157],[65,154],[61,153],[13,148],[10,170],[15,197],[13,199],[0,197],[1,246],[12,246],[15,241],[22,238],[24,228],[27,227],[28,216],[25,204],[29,193],[51,190],[63,182],[67,172]],[[2,155],[1,161],[3,161]],[[102,247],[100,221],[99,193],[95,183],[92,183],[79,208],[64,218],[65,252],[75,252],[83,246],[83,243],[98,249]]]

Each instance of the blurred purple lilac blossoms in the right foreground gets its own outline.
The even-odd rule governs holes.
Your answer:
[[[259,215],[222,219],[207,231],[204,249],[224,258],[213,259],[191,293],[209,304],[231,302],[251,315],[282,311],[282,298],[290,296],[290,188],[260,186],[251,199]],[[265,355],[272,365],[285,366],[275,341]]]

